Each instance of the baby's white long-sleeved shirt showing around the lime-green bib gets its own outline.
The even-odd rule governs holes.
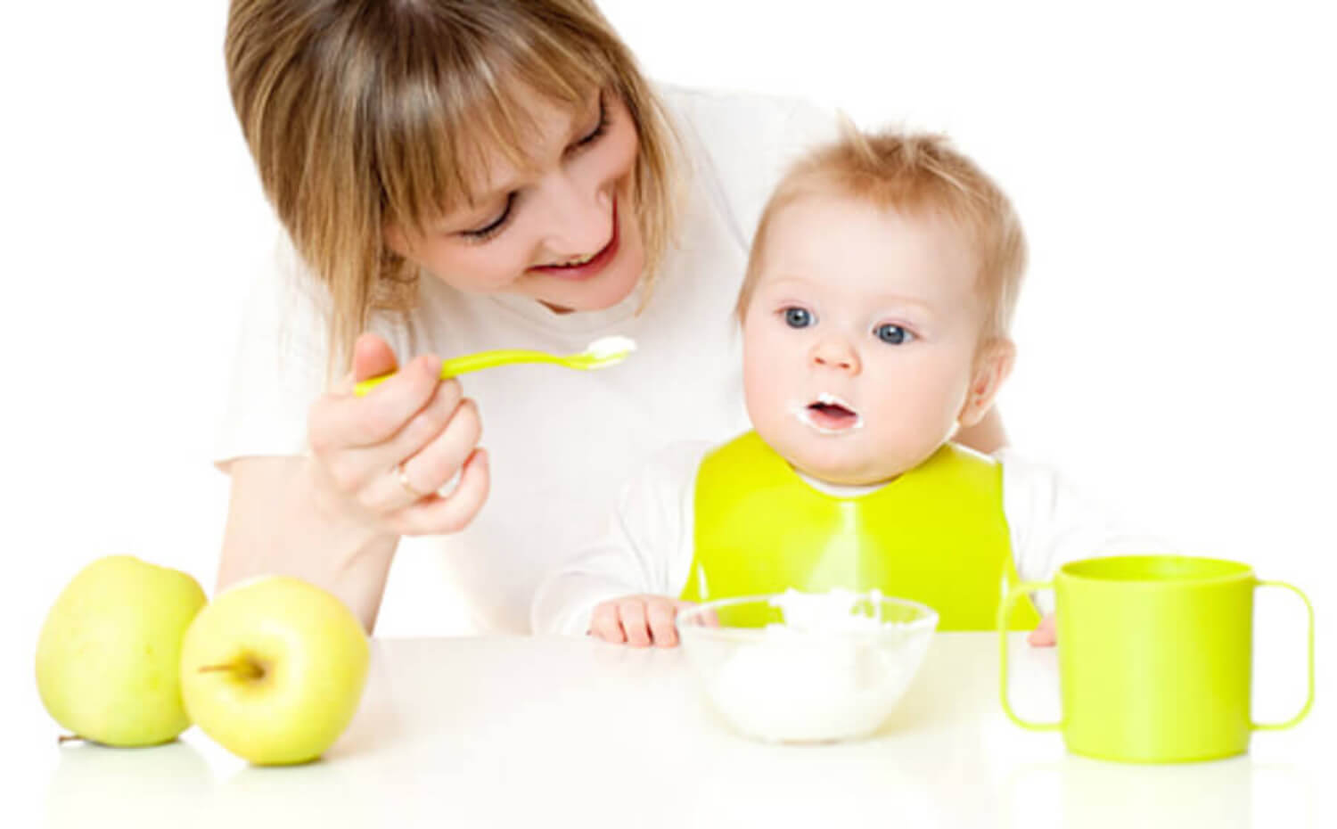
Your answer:
[[[697,472],[714,445],[718,443],[670,447],[627,481],[603,531],[539,586],[532,615],[536,632],[583,635],[600,602],[635,594],[682,594],[691,572]],[[1078,559],[1165,551],[1163,539],[1120,525],[1056,471],[1012,449],[995,457],[1003,465],[1003,513],[1023,582],[1046,580]],[[881,488],[801,477],[840,497]],[[1052,592],[1034,598],[1042,612],[1054,611]]]

